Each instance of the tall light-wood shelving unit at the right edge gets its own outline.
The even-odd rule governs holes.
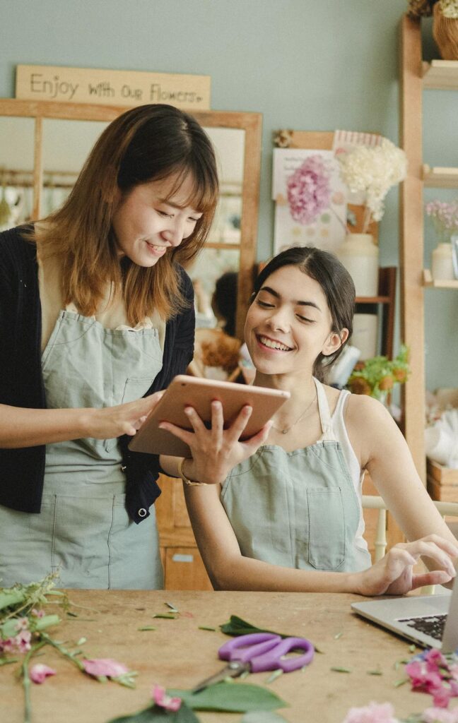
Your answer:
[[[401,23],[401,145],[407,178],[400,190],[401,333],[410,346],[412,375],[403,385],[404,435],[426,484],[424,289],[458,288],[458,281],[435,281],[423,269],[423,186],[458,188],[458,168],[423,163],[423,90],[458,90],[458,61],[423,62],[420,20]]]

